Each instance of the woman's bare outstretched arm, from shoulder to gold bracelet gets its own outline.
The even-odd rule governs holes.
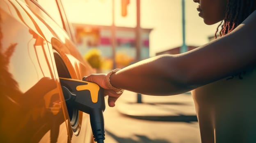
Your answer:
[[[255,64],[256,11],[217,40],[183,54],[142,60],[112,74],[110,81],[114,87],[142,94],[180,94]],[[104,86],[100,76],[93,75],[86,80]]]

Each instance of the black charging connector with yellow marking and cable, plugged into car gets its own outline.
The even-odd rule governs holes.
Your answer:
[[[66,104],[90,115],[94,141],[104,143],[105,130],[103,90],[96,83],[70,78],[59,78]]]

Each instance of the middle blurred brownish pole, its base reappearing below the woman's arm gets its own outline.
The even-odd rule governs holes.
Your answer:
[[[136,1],[137,3],[137,26],[135,29],[136,36],[136,59],[137,62],[141,60],[141,35],[140,35],[140,0]],[[142,103],[141,94],[137,93],[137,103]]]

